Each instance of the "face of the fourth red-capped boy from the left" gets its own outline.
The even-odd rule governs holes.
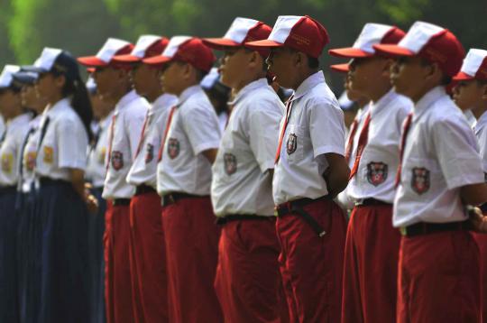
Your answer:
[[[225,50],[219,67],[222,83],[229,88],[241,87],[249,64],[252,63],[252,56],[253,51],[243,47]]]

